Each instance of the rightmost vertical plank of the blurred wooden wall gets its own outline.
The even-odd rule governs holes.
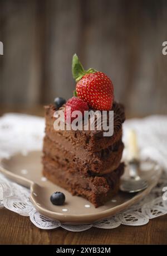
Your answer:
[[[133,2],[131,15],[127,15],[127,18],[131,23],[129,44],[134,49],[134,59],[129,63],[131,83],[129,88],[126,87],[129,93],[125,104],[127,110],[139,115],[142,112],[145,115],[163,113],[167,109],[164,97],[167,58],[161,53],[161,44],[167,36],[164,26],[167,21],[167,5],[165,1]]]

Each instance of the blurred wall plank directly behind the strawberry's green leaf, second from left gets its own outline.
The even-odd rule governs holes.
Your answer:
[[[72,55],[77,49],[80,1],[46,2],[45,102],[54,97],[72,97],[75,83],[71,74]]]

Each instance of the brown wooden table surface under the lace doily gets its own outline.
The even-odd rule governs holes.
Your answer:
[[[3,108],[0,115],[8,111],[11,110]],[[14,111],[12,109],[12,112]],[[24,112],[43,115],[41,107]],[[61,227],[54,230],[38,229],[31,223],[29,217],[2,208],[0,209],[0,244],[167,244],[167,215],[152,219],[143,226],[120,225],[116,229],[109,230],[92,227],[74,233]]]

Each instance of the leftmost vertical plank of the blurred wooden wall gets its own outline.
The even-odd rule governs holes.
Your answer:
[[[39,58],[36,1],[3,1],[3,72],[0,100],[7,105],[38,103]]]

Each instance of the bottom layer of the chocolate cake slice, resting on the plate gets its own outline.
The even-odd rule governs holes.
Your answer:
[[[72,195],[87,198],[95,207],[104,205],[110,197],[114,196],[120,183],[120,176],[124,172],[124,164],[111,174],[104,176],[87,176],[74,171],[65,170],[50,157],[43,158],[43,175],[53,183],[67,189]]]

